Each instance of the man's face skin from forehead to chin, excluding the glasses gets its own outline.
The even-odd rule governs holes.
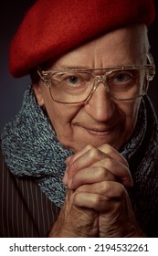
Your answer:
[[[68,52],[49,69],[103,68],[142,64],[140,42],[133,29],[115,30]],[[52,85],[53,86],[53,85]],[[113,100],[103,83],[90,100],[83,104],[64,104],[53,101],[49,90],[40,81],[34,85],[39,105],[45,105],[58,140],[74,153],[88,144],[99,147],[111,144],[119,150],[131,136],[141,99]]]

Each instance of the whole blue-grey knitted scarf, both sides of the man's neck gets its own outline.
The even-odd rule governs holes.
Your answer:
[[[157,127],[153,105],[145,96],[132,137],[121,148],[132,173],[134,186],[129,189],[132,208],[143,229],[149,229],[158,204]],[[5,125],[1,140],[10,171],[15,176],[35,178],[41,190],[60,208],[66,194],[62,183],[65,161],[72,152],[58,142],[31,86],[25,92],[20,112]]]

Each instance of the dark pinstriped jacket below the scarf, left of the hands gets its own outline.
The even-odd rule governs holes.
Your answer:
[[[13,176],[0,154],[0,237],[47,237],[58,213],[36,180]]]

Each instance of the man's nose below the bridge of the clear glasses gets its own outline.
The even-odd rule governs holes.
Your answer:
[[[85,110],[98,122],[111,119],[115,111],[115,102],[104,80],[95,81],[90,99],[85,104]]]

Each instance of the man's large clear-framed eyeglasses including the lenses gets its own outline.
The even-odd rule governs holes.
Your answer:
[[[116,101],[131,101],[146,94],[149,81],[153,80],[155,67],[153,57],[147,54],[150,64],[108,67],[101,69],[48,70],[40,68],[40,79],[49,88],[53,101],[80,103],[90,100],[91,95],[103,84]]]

